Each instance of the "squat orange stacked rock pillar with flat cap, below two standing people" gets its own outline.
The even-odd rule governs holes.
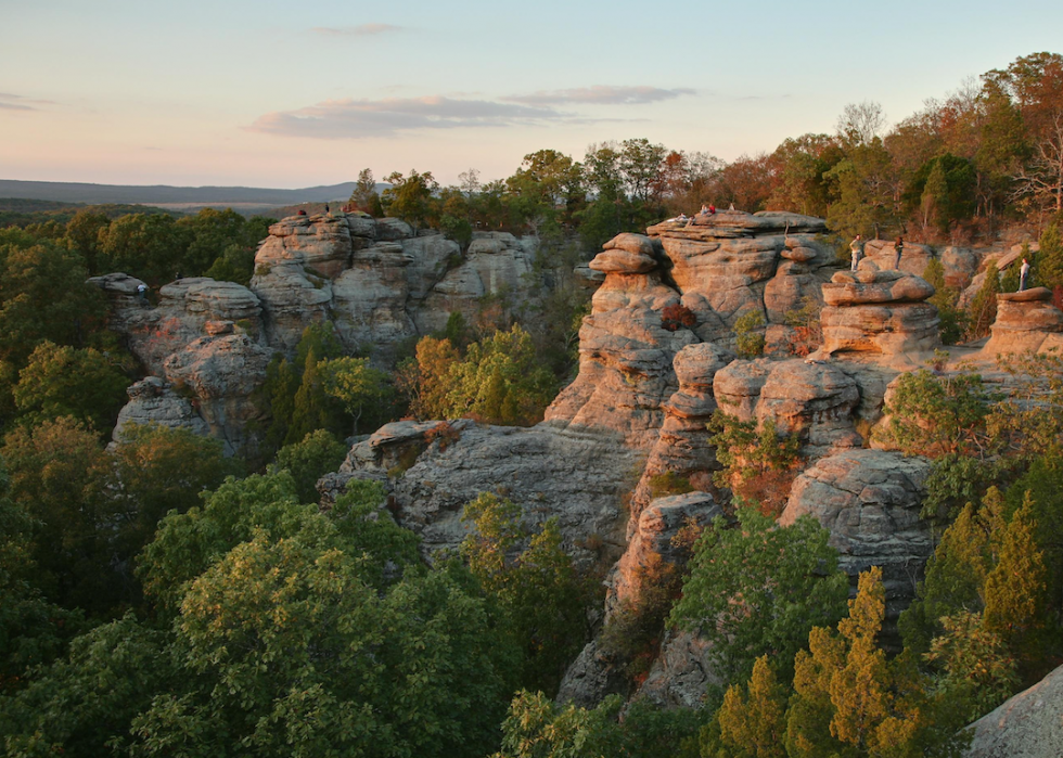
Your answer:
[[[821,355],[878,354],[919,364],[940,346],[934,287],[902,271],[838,271],[823,285]]]

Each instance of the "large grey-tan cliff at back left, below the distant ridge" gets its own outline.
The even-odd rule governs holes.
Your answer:
[[[528,298],[535,247],[512,234],[474,232],[464,256],[441,234],[399,219],[356,214],[293,216],[269,229],[251,288],[269,344],[292,354],[309,323],[331,320],[344,347],[382,360],[405,339],[441,330],[452,311],[471,318],[485,295]]]

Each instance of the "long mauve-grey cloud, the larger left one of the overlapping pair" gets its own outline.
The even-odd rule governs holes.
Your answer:
[[[384,100],[326,100],[295,111],[277,111],[255,119],[247,129],[285,137],[340,140],[386,137],[422,129],[508,127],[567,120],[569,114],[490,100],[456,100],[441,95]]]

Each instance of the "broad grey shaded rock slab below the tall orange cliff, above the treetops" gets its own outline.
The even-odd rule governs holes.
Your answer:
[[[556,516],[566,548],[582,562],[597,558],[584,547],[601,542],[615,557],[624,545],[622,499],[639,455],[623,438],[603,431],[530,428],[456,422],[458,439],[444,447],[425,434],[439,422],[396,422],[355,445],[329,485],[329,497],[344,479],[386,481],[392,511],[417,531],[425,555],[453,550],[468,534],[465,503],[496,492],[524,506],[539,524]],[[390,476],[387,474],[390,472]]]

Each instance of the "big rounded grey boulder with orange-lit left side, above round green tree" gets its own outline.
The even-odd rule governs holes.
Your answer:
[[[930,462],[880,450],[846,450],[817,461],[797,477],[779,517],[782,526],[811,515],[830,530],[840,566],[853,588],[860,571],[882,567],[886,590],[884,642],[899,648],[897,617],[915,596],[934,552],[919,511]]]

